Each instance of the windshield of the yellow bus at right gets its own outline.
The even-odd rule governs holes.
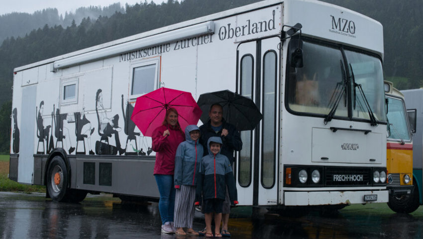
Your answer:
[[[400,99],[387,97],[389,139],[410,140],[410,130],[407,127],[407,118],[404,103]]]

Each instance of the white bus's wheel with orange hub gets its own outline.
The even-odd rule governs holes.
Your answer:
[[[68,201],[69,175],[65,161],[60,156],[54,156],[47,171],[47,193],[53,201]]]

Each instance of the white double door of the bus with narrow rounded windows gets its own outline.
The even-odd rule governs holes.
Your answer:
[[[241,131],[236,185],[240,205],[278,203],[280,38],[241,43],[237,52],[237,92],[251,98],[263,119]]]

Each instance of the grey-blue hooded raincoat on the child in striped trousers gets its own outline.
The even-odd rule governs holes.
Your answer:
[[[185,128],[185,141],[180,143],[175,155],[175,188],[181,185],[195,186],[195,180],[201,158],[203,157],[203,146],[199,140],[191,139],[190,132],[199,130],[197,125],[188,125]]]

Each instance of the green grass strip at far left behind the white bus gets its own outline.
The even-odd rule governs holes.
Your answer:
[[[45,193],[44,186],[20,184],[7,178],[9,172],[9,155],[0,155],[0,191],[2,192],[40,192]]]

